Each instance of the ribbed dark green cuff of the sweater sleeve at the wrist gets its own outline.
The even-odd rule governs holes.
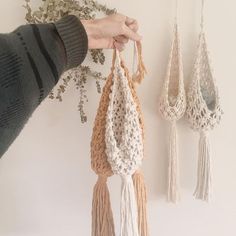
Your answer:
[[[74,16],[64,16],[55,23],[67,56],[67,69],[80,65],[88,51],[88,37],[83,24]]]

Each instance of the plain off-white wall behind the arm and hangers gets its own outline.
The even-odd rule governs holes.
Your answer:
[[[39,2],[39,1],[35,1]],[[167,123],[157,104],[171,42],[174,0],[106,1],[135,17],[143,35],[148,76],[139,88],[146,120],[144,172],[148,185],[151,236],[236,235],[236,2],[207,1],[207,35],[225,115],[212,132],[214,198],[193,199],[198,136],[185,121],[179,124],[182,201],[165,201]],[[200,0],[180,0],[185,79],[189,81],[199,30]],[[24,21],[21,0],[0,1],[0,32]],[[131,45],[130,45],[131,48]],[[108,55],[110,53],[108,52]],[[131,54],[131,53],[130,53]],[[127,51],[127,58],[131,59]],[[129,61],[130,62],[130,61]],[[109,61],[104,67],[108,72]],[[78,92],[64,102],[45,101],[0,160],[0,236],[89,236],[92,188],[90,137],[99,95],[89,81],[89,120],[80,123]],[[119,225],[118,177],[110,182],[115,221]],[[118,228],[118,227],[117,227]]]

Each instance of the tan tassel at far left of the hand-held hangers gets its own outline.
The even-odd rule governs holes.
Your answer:
[[[93,190],[92,236],[115,236],[107,176],[99,175]]]

